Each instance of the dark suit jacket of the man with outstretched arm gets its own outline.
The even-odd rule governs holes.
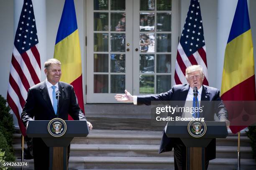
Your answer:
[[[161,93],[144,95],[137,97],[137,104],[150,105],[151,101],[181,101],[180,107],[184,107],[185,101],[187,99],[187,94],[189,91],[188,84],[174,85],[171,90]],[[204,117],[205,121],[214,121],[214,114],[218,116],[220,121],[225,121],[228,118],[227,109],[225,108],[222,100],[220,99],[220,91],[213,87],[202,85],[201,102],[208,104],[204,107],[200,117]],[[215,101],[212,102],[211,101]],[[159,153],[172,151],[173,148],[173,138],[167,137],[165,131],[161,139],[161,144],[159,148]],[[215,139],[210,142],[210,144],[205,149],[206,160],[215,159],[216,156],[216,141]]]

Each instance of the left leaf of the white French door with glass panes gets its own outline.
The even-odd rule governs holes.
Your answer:
[[[87,0],[88,103],[116,102],[115,94],[132,89],[130,6],[125,0]]]

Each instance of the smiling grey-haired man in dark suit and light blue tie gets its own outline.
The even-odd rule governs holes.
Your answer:
[[[86,120],[80,109],[72,85],[59,81],[61,78],[61,63],[51,58],[44,63],[46,80],[32,86],[28,90],[26,104],[21,113],[25,127],[29,121],[51,120],[57,117],[56,91],[60,91],[58,117],[68,120],[68,114],[74,120]],[[33,119],[34,118],[34,119]],[[90,129],[92,124],[87,122]],[[32,139],[34,167],[36,170],[49,169],[49,147],[41,138]],[[70,145],[68,147],[69,157]]]

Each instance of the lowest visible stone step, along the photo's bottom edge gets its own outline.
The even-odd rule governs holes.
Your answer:
[[[29,162],[33,167],[33,160]],[[173,170],[172,157],[70,157],[69,168],[79,170]],[[208,170],[233,170],[237,168],[237,159],[217,158],[211,160]],[[255,160],[241,159],[242,170],[255,170]]]

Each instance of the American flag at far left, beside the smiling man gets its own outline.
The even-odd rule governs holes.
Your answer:
[[[41,62],[33,4],[31,0],[24,0],[14,39],[7,92],[8,104],[16,115],[20,131],[24,136],[26,129],[20,114],[27,99],[28,89],[38,84],[40,79]]]

